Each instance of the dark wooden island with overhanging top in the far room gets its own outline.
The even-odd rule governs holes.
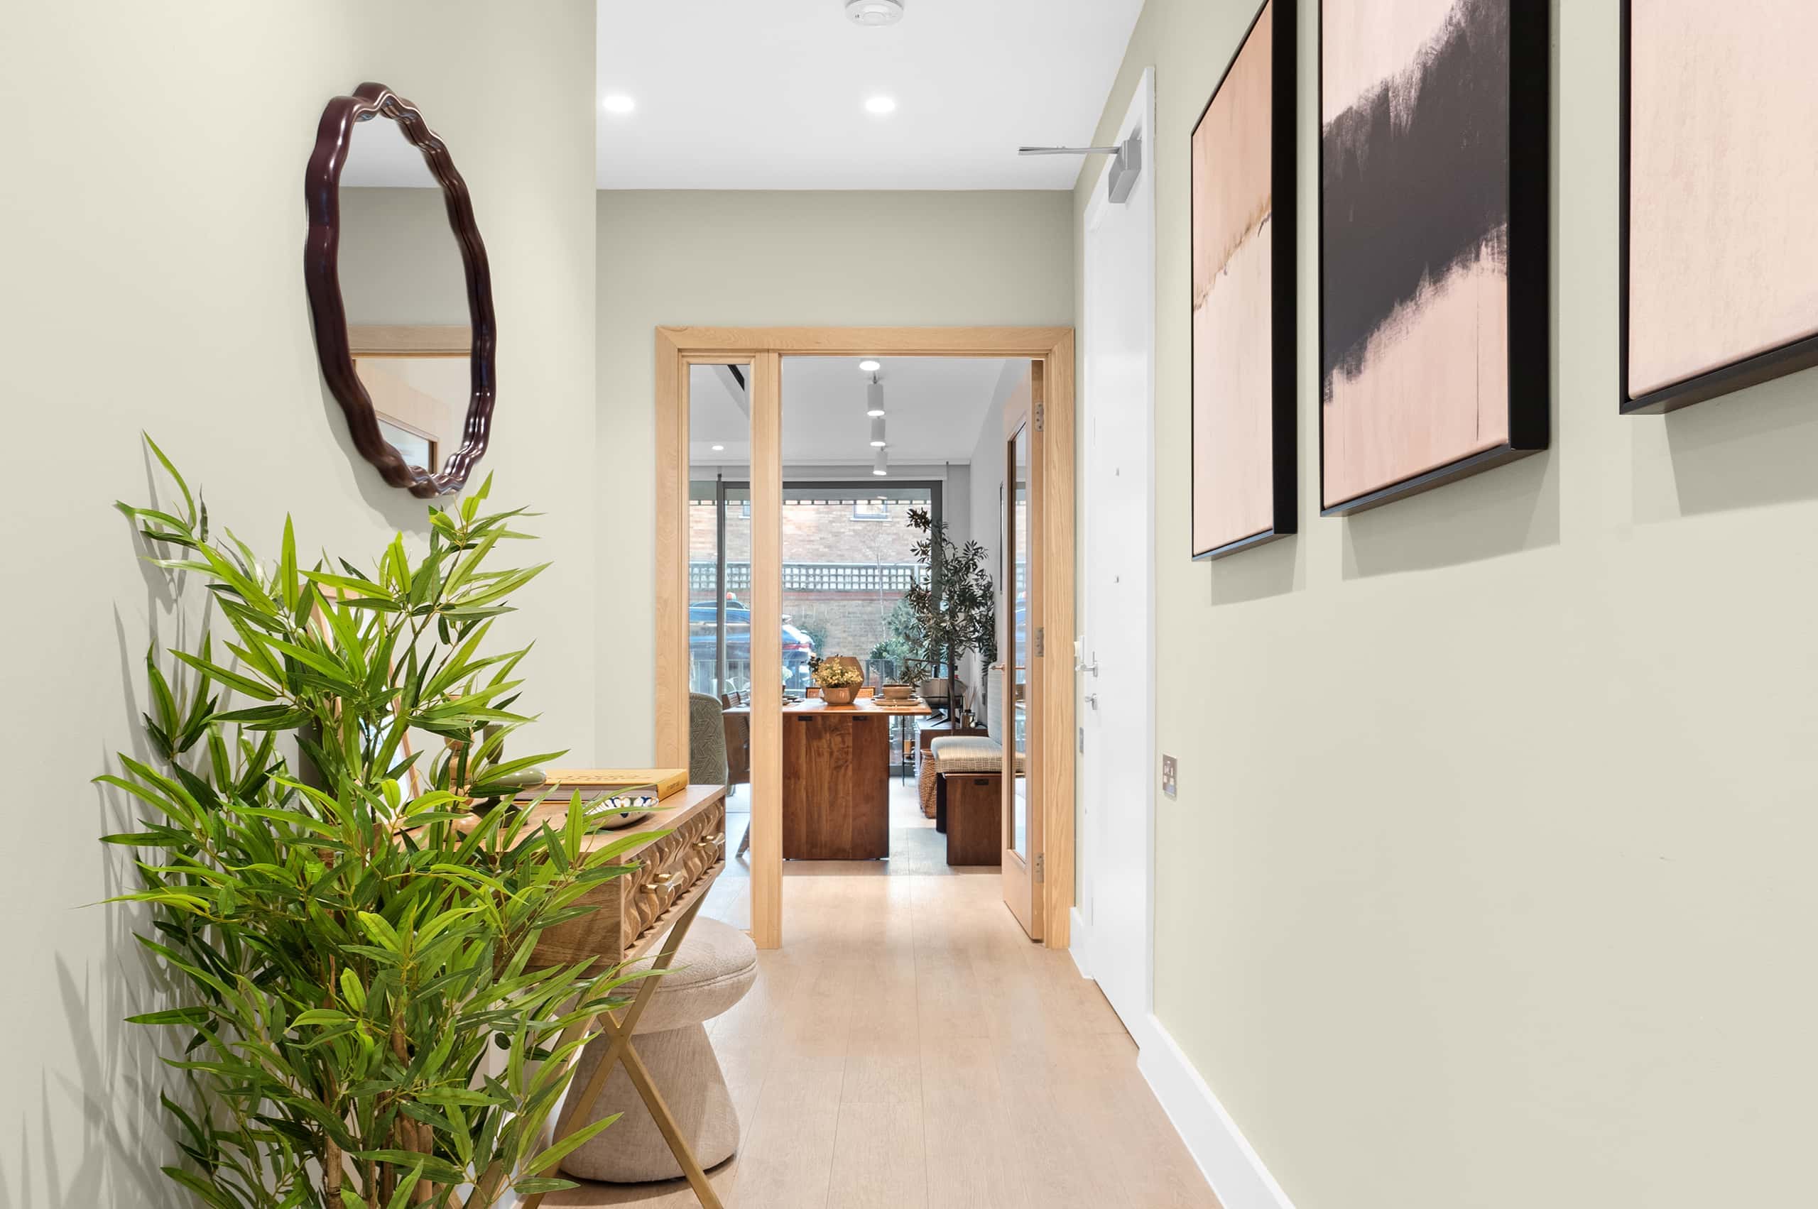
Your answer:
[[[887,858],[891,718],[931,713],[922,700],[884,705],[869,696],[851,705],[818,696],[784,705],[784,860]]]

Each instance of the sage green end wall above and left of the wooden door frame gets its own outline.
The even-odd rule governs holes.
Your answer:
[[[651,758],[656,327],[1073,324],[1071,196],[600,193],[600,753]]]

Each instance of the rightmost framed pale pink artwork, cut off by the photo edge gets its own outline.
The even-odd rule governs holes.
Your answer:
[[[1818,365],[1818,5],[1622,5],[1622,411]]]

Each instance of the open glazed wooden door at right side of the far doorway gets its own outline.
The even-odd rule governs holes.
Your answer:
[[[1004,656],[1000,713],[1004,736],[1004,902],[1029,933],[1042,940],[1042,793],[1036,773],[1036,644],[1045,645],[1034,551],[1038,542],[1034,482],[1034,416],[1040,407],[1040,365],[1033,367],[1031,391],[1004,407],[1004,567],[998,576],[1002,602],[998,622]]]

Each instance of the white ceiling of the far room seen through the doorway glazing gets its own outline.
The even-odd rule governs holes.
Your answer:
[[[971,462],[993,402],[1009,393],[1027,362],[973,356],[884,358],[884,436],[898,465]],[[867,467],[871,418],[858,360],[791,356],[784,362],[784,464]],[[725,445],[716,451],[713,445]],[[749,465],[745,393],[720,365],[689,376],[689,462]]]

